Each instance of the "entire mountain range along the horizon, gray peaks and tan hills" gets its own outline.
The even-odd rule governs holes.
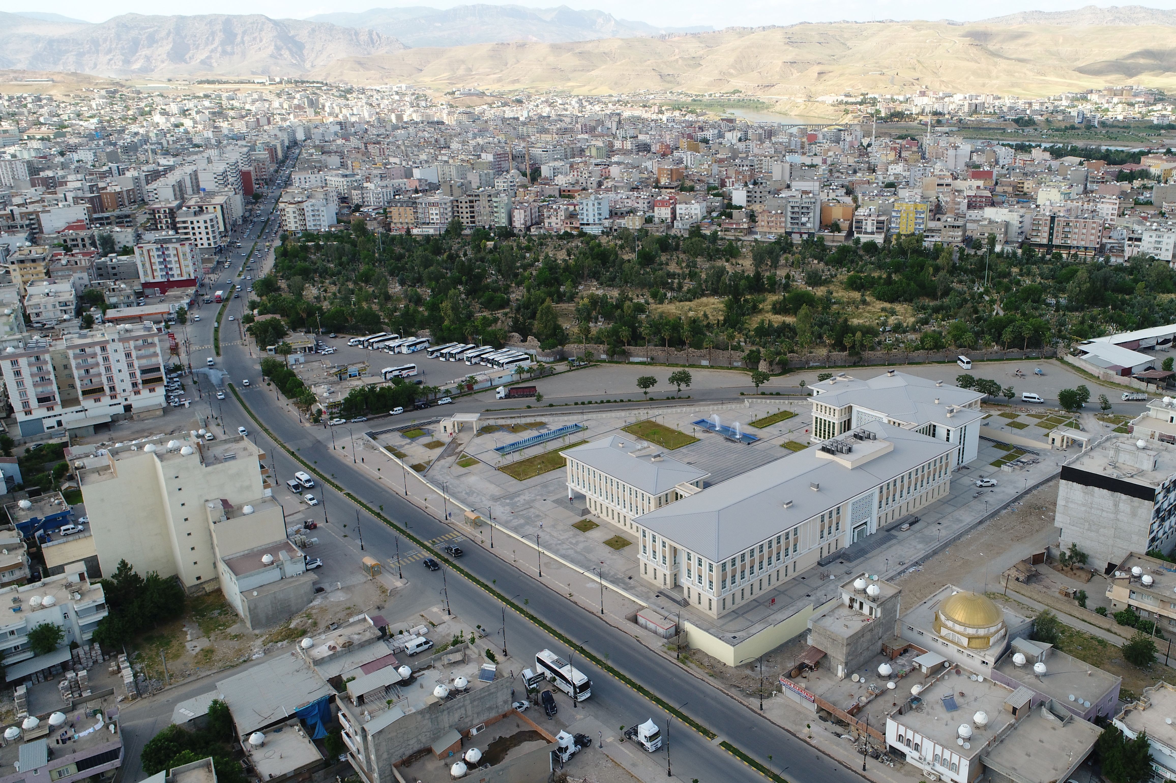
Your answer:
[[[779,100],[918,88],[1033,96],[1115,83],[1176,88],[1172,27],[1176,12],[1141,6],[1022,12],[967,24],[717,32],[654,28],[562,7],[486,5],[312,20],[125,14],[85,24],[0,13],[0,68],[105,76],[305,75],[596,94],[740,89]],[[526,40],[510,38],[524,32]],[[449,40],[481,42],[423,46]]]

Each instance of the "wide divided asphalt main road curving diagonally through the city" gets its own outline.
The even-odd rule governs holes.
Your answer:
[[[270,203],[272,200],[266,201],[267,207]],[[258,221],[259,227],[261,222],[260,220]],[[245,240],[242,240],[243,243]],[[240,262],[235,261],[229,272],[235,274],[239,265]],[[241,300],[232,300],[227,314],[233,314],[239,319],[245,301],[243,297]],[[211,344],[212,327],[212,319],[203,319],[199,323],[189,323],[188,330],[192,342],[194,344]],[[234,330],[229,329],[228,332]],[[222,337],[225,340],[236,339],[235,335],[230,336],[226,334],[225,329],[222,329]],[[199,363],[198,357],[193,364]],[[258,359],[250,357],[243,346],[222,344],[222,357],[216,361],[216,366],[226,374],[227,381],[238,383],[238,388],[240,388],[240,379],[258,379]],[[287,413],[283,413],[281,401],[263,386],[256,384],[248,389],[241,389],[241,392],[250,408],[266,422],[270,431],[283,442],[293,444],[302,459],[315,464],[323,473],[335,477],[341,486],[362,497],[373,507],[382,508],[385,515],[389,518],[395,520],[399,524],[409,528],[416,536],[426,540],[441,536],[452,530],[450,527],[434,520],[415,506],[405,501],[395,491],[394,487],[385,487],[370,478],[365,471],[347,464],[345,460],[338,459],[338,455],[345,455],[346,453],[333,451],[329,446],[323,446],[318,439],[308,436],[309,434],[306,431],[306,428],[300,426],[296,420],[292,420]],[[737,399],[737,392],[735,393],[735,397]],[[232,433],[238,426],[245,426],[250,430],[250,437],[276,456],[278,464],[275,473],[278,481],[283,481],[293,473],[294,463],[289,456],[280,449],[274,448],[274,444],[267,442],[268,439],[263,435],[252,431],[255,429],[252,420],[248,419],[232,395],[223,401],[221,410],[228,431]],[[316,489],[320,490],[326,506],[323,509],[325,515],[333,520],[330,524],[340,524],[343,521],[350,522],[354,520],[355,508],[346,498],[329,487],[320,486]],[[370,517],[361,517],[361,522],[363,523],[366,551],[383,561],[393,557],[394,530]],[[783,768],[784,775],[789,779],[803,783],[840,783],[842,781],[857,782],[862,779],[855,771],[817,752],[803,741],[747,709],[708,683],[677,670],[630,635],[607,624],[595,615],[575,607],[546,585],[522,575],[519,570],[489,551],[482,550],[477,546],[469,546],[466,547],[466,556],[462,558],[462,566],[479,578],[497,585],[500,590],[508,595],[516,596],[516,601],[526,602],[528,610],[542,617],[544,622],[556,628],[568,638],[583,640],[586,649],[607,658],[612,665],[642,683],[667,702],[675,705],[683,705],[682,710],[686,714],[710,728],[720,737],[730,741],[744,752],[764,764],[769,763],[768,756],[771,755],[773,762],[770,763],[773,767],[777,771]],[[413,563],[412,566],[420,569],[417,574],[412,575],[412,578],[421,585],[420,589],[430,595],[440,595],[445,585],[442,574],[426,571],[419,563]],[[472,623],[481,623],[483,627],[489,628],[501,625],[501,604],[494,601],[487,593],[467,582],[456,573],[449,573],[446,576],[446,582],[448,584],[450,603],[463,620]],[[507,614],[507,644],[508,649],[521,645],[522,651],[513,649],[512,652],[522,658],[527,658],[534,651],[544,647],[567,652],[564,645],[554,637],[509,611]],[[620,723],[626,725],[632,725],[647,717],[654,717],[659,723],[666,721],[664,714],[660,714],[660,710],[648,700],[630,690],[623,683],[613,680],[583,661],[576,665],[593,678],[592,698],[596,703],[594,708],[622,716]],[[568,707],[568,704],[563,705],[564,709]],[[623,716],[628,717],[624,718]],[[686,779],[697,778],[699,781],[709,782],[761,778],[757,772],[743,764],[735,756],[731,756],[716,743],[711,743],[693,730],[679,729],[675,731],[671,729],[670,738],[673,742],[671,752],[674,755],[674,764],[679,769],[679,775]]]

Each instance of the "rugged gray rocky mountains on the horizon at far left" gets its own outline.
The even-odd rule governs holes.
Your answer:
[[[98,25],[0,13],[0,68],[98,75],[298,75],[403,44],[376,32],[260,14],[143,16]]]

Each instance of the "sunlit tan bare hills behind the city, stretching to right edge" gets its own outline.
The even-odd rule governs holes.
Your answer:
[[[669,39],[483,44],[343,58],[313,75],[353,83],[636,89],[816,98],[913,88],[1049,95],[1107,83],[1176,86],[1171,27],[1002,21],[728,28]]]

